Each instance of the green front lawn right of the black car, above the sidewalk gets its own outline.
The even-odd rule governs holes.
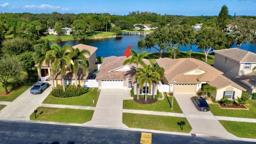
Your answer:
[[[249,105],[245,105],[249,110],[244,109],[221,109],[216,104],[209,104],[211,112],[215,116],[230,116],[230,117],[244,117],[256,118],[256,102],[249,100]]]

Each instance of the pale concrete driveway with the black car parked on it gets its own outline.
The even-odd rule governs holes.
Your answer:
[[[215,118],[211,111],[198,111],[190,100],[194,93],[175,93],[174,97],[179,103],[183,114],[192,127],[190,133],[205,134],[213,137],[236,137],[229,133]]]

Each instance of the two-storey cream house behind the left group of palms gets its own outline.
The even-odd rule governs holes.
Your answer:
[[[95,70],[95,62],[96,62],[96,51],[97,47],[89,46],[89,45],[84,45],[84,44],[78,44],[73,46],[73,48],[77,48],[80,51],[82,50],[88,50],[90,52],[90,55],[85,55],[85,57],[89,60],[90,66],[87,70],[87,74],[83,74],[83,69],[79,68],[78,69],[78,84],[79,85],[84,85],[85,80],[88,79],[93,71]],[[49,79],[52,81],[51,77],[51,67],[45,63],[45,61],[42,63],[42,66],[39,67],[38,65],[35,65],[37,67],[38,71],[38,76],[41,80],[46,80]],[[69,71],[67,68],[67,72],[65,74],[65,82],[62,83],[62,78],[60,77],[59,71],[57,74],[54,76],[54,81],[55,84],[75,84],[75,74],[72,71]]]

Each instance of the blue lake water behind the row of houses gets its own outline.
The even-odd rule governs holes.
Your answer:
[[[84,41],[65,41],[61,42],[59,45],[63,46],[65,44],[70,44],[70,45],[77,45],[77,44],[86,44],[86,45],[91,45],[98,47],[98,50],[96,52],[97,57],[109,57],[111,55],[115,56],[122,56],[124,55],[123,53],[126,50],[126,47],[128,46],[133,46],[132,49],[135,49],[138,51],[137,47],[137,42],[139,39],[144,39],[145,35],[141,34],[124,34],[122,37],[115,37],[115,38],[105,38],[105,39],[87,39]],[[231,47],[236,47],[236,45],[233,45]],[[256,44],[243,44],[241,46],[241,49],[251,51],[256,53]],[[180,47],[180,51],[189,51],[188,47]],[[151,52],[158,52],[154,48],[151,49],[146,49],[148,53]],[[196,45],[193,45],[192,51],[194,52],[202,52],[202,50],[197,49]]]

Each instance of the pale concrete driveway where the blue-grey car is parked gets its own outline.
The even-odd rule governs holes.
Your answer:
[[[0,119],[29,120],[34,109],[41,105],[52,90],[50,86],[42,94],[30,94],[30,88],[0,111]]]

